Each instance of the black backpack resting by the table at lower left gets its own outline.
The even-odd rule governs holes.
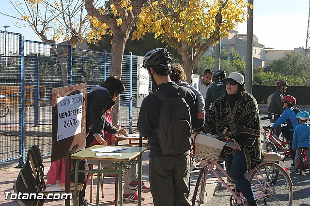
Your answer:
[[[31,165],[33,165],[36,174],[34,174]],[[26,162],[17,176],[13,189],[15,193],[20,192],[23,196],[35,193],[37,194],[37,198],[34,198],[33,195],[30,195],[29,198],[22,198],[20,200],[16,198],[16,203],[19,206],[43,206],[45,197],[41,192],[44,191],[45,188],[46,183],[44,180],[42,155],[39,147],[33,145],[27,152]],[[38,193],[41,194],[38,195]]]

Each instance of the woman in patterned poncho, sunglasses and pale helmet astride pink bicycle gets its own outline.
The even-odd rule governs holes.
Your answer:
[[[244,132],[231,135],[235,142],[232,147],[225,147],[225,166],[248,205],[257,206],[253,189],[244,174],[263,161],[258,105],[255,98],[245,91],[242,74],[233,72],[224,79],[224,83],[226,94],[212,104],[203,129],[204,132],[221,135],[225,127],[233,132],[236,126],[245,126]]]

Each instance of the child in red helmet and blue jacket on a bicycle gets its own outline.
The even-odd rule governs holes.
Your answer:
[[[296,99],[291,96],[291,95],[287,95],[285,97],[282,98],[282,102],[283,102],[283,108],[285,109],[282,113],[282,115],[277,119],[277,121],[275,123],[273,123],[271,126],[273,128],[276,128],[277,126],[283,124],[283,123],[287,123],[288,129],[290,131],[290,151],[291,151],[291,156],[292,156],[292,165],[290,167],[288,167],[291,170],[295,169],[295,151],[293,151],[292,149],[292,143],[293,143],[293,134],[294,134],[294,130],[295,127],[299,125],[299,122],[296,118],[296,114],[295,114],[295,107],[294,105],[296,104]]]

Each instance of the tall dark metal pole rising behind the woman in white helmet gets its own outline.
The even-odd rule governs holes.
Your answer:
[[[252,5],[253,0],[248,0]],[[252,78],[253,78],[253,9],[248,6],[248,22],[247,22],[247,58],[246,58],[246,90],[252,94]]]

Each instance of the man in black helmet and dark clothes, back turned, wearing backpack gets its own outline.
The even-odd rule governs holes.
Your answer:
[[[171,81],[171,61],[170,54],[165,48],[152,49],[144,56],[143,67],[148,70],[152,82],[157,88],[142,102],[137,129],[142,137],[148,137],[150,146],[149,172],[154,206],[190,206],[188,200],[190,151],[188,148],[187,151],[179,154],[163,152],[167,147],[159,142],[159,138],[162,140],[163,137],[159,136],[162,134],[160,131],[163,128],[159,121],[159,118],[162,117],[161,106],[166,99],[177,98],[185,93],[183,100],[189,106],[192,129],[202,127],[204,118],[197,118],[198,105],[194,92],[189,88],[181,88]],[[173,114],[171,115],[173,116]],[[171,124],[169,123],[169,125]],[[182,127],[179,130],[182,131]],[[186,145],[186,142],[182,144]],[[190,147],[190,144],[187,145]]]

